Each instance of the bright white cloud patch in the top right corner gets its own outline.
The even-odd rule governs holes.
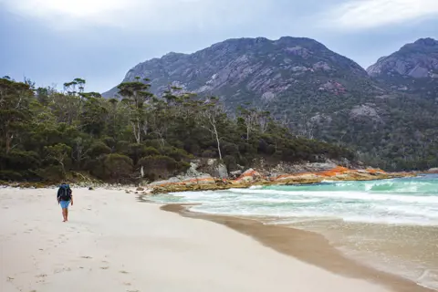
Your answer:
[[[328,10],[326,26],[360,30],[438,16],[438,0],[349,0]]]

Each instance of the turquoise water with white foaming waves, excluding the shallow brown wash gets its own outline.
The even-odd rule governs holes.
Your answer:
[[[193,212],[271,217],[272,224],[340,219],[376,224],[438,225],[438,175],[372,182],[170,193],[159,203],[201,203]]]

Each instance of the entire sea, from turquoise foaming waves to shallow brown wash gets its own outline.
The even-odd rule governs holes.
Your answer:
[[[438,175],[170,193],[152,199],[199,203],[190,209],[317,232],[364,265],[438,290]]]

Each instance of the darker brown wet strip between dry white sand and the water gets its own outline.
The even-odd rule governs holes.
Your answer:
[[[340,276],[362,279],[391,288],[396,292],[435,291],[428,287],[422,287],[409,279],[362,265],[350,259],[330,245],[324,235],[286,226],[262,224],[251,218],[194,213],[187,209],[187,206],[190,205],[193,204],[165,204],[162,205],[161,209],[180,214],[183,217],[223,224],[254,238],[276,252],[295,257],[309,265],[321,267]]]

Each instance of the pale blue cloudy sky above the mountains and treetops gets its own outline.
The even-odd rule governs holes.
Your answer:
[[[0,0],[0,76],[103,92],[152,57],[256,36],[311,37],[367,68],[438,39],[438,0]]]

